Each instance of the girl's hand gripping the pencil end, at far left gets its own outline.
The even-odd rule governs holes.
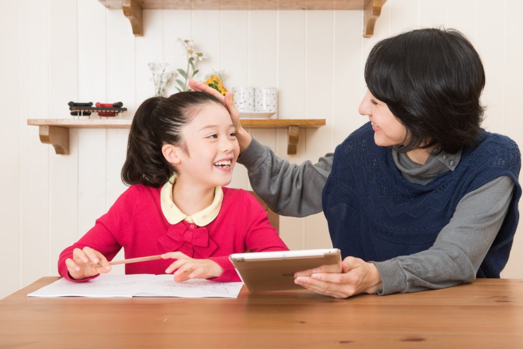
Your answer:
[[[100,267],[87,267],[86,264],[101,264]],[[65,260],[69,275],[75,280],[85,279],[86,277],[98,274],[107,274],[111,271],[111,266],[107,258],[100,252],[85,246],[82,250],[74,249],[73,258]]]

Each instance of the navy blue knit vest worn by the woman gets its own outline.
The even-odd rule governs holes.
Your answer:
[[[332,172],[323,189],[323,212],[334,247],[343,257],[381,262],[427,250],[434,244],[463,196],[499,176],[516,190],[477,277],[499,277],[519,219],[521,156],[514,141],[486,131],[474,149],[464,149],[454,171],[426,185],[407,182],[389,147],[374,143],[370,122],[336,147]]]

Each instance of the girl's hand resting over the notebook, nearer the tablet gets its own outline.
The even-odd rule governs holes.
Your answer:
[[[165,274],[174,272],[176,282],[188,279],[209,279],[222,275],[222,267],[212,260],[198,260],[191,258],[181,252],[168,252],[162,254],[162,259],[173,258],[177,260],[165,269]]]

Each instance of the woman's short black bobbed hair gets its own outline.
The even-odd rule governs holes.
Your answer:
[[[479,54],[454,29],[417,29],[381,40],[365,65],[369,91],[407,129],[407,152],[439,144],[473,148],[481,130],[485,72]]]

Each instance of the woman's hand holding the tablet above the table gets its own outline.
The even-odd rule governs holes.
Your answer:
[[[360,293],[373,294],[382,287],[376,265],[355,257],[343,260],[341,273],[336,265],[324,265],[296,273],[294,283],[335,298],[347,298]]]

